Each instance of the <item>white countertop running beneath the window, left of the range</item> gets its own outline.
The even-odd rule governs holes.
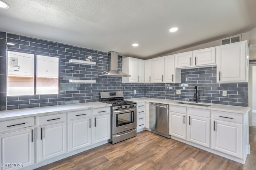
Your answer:
[[[7,119],[17,119],[28,116],[39,116],[49,115],[54,113],[60,113],[63,111],[70,111],[73,109],[92,109],[100,107],[110,107],[110,104],[101,102],[90,102],[90,103],[78,103],[72,105],[58,105],[58,106],[47,106],[47,107],[35,107],[29,109],[15,109],[8,111],[0,111],[0,121]]]

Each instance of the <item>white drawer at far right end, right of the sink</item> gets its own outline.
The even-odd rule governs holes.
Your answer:
[[[220,111],[212,111],[213,119],[218,119],[222,121],[234,122],[234,123],[242,123],[243,118],[241,114],[236,113],[228,113],[228,112],[220,112]]]

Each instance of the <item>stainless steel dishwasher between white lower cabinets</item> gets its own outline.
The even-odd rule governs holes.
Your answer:
[[[149,104],[149,128],[153,133],[171,138],[169,135],[168,105],[160,103]]]

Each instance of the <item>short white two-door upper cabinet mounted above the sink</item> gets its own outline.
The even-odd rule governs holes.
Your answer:
[[[176,67],[215,65],[215,47],[175,54]]]

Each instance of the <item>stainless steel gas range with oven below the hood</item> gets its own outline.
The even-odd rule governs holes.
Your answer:
[[[112,104],[109,142],[115,144],[137,135],[136,102],[124,100],[123,91],[100,92],[100,101]]]

